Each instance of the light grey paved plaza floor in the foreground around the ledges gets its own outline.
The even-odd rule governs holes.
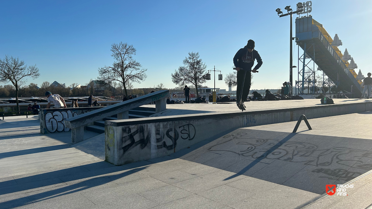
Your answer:
[[[71,145],[71,132],[40,134],[37,117],[1,121],[0,208],[287,209],[372,169],[372,112],[310,119],[295,134],[295,121],[239,128],[122,166],[103,160],[104,135]],[[305,208],[366,208],[371,183]]]

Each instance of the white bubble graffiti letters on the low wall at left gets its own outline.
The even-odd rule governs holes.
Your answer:
[[[45,114],[45,127],[50,133],[70,131],[70,128],[65,127],[64,120],[77,116],[77,113],[67,111],[54,111]]]

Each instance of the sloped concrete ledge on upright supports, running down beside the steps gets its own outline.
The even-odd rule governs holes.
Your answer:
[[[134,109],[141,105],[146,105],[155,102],[155,112],[161,112],[166,109],[166,97],[169,97],[169,90],[155,91],[141,97],[137,97],[125,102],[120,102],[115,105],[103,107],[98,110],[93,110],[82,115],[75,116],[64,120],[65,127],[71,128],[71,142],[73,144],[83,141],[84,127],[94,121],[103,120],[112,115],[118,115],[118,119],[128,119],[128,110]]]

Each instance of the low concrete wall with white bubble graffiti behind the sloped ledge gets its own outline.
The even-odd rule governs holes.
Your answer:
[[[70,128],[65,127],[63,122],[65,119],[73,118],[102,107],[71,107],[71,108],[51,108],[40,109],[40,133],[51,134],[57,132],[71,131]]]

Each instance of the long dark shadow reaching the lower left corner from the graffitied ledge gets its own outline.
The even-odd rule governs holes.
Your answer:
[[[152,164],[146,161],[147,165]],[[144,163],[141,163],[142,165]],[[17,192],[36,192],[35,194],[27,195],[25,197],[20,197],[13,200],[8,200],[1,202],[1,208],[16,208],[32,203],[40,202],[43,200],[48,200],[54,197],[59,197],[71,193],[79,193],[83,190],[87,190],[93,187],[101,186],[106,183],[110,183],[122,177],[128,176],[130,174],[137,173],[138,171],[146,169],[148,166],[138,167],[138,163],[133,163],[132,169],[130,164],[126,167],[115,166],[113,164],[107,163],[105,161],[99,163],[87,164],[79,167],[84,167],[86,172],[77,172],[78,167],[67,168],[58,171],[52,171],[49,173],[38,174],[29,177],[23,177],[20,179],[15,179],[18,184],[12,186],[1,187],[1,185],[6,185],[8,182],[0,182],[0,196],[16,193]],[[128,169],[129,167],[129,169]],[[134,168],[133,168],[134,167]],[[97,170],[87,170],[86,168],[99,168]],[[119,174],[115,172],[123,171]],[[109,175],[110,173],[115,173]],[[63,179],[63,180],[61,180]],[[66,180],[67,179],[67,180]],[[81,181],[80,181],[81,180]],[[14,181],[14,180],[11,180]],[[65,184],[64,182],[77,181],[77,183]],[[63,183],[61,185],[61,183]],[[54,187],[53,185],[56,184]],[[52,187],[48,187],[52,186]],[[37,189],[39,187],[44,187]],[[47,187],[47,188],[45,188]],[[26,191],[31,190],[31,191]],[[45,190],[42,192],[42,190]],[[12,194],[15,195],[15,194]]]

